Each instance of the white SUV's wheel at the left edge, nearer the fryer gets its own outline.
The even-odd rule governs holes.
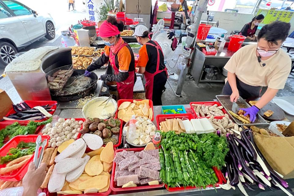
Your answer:
[[[13,59],[17,50],[8,42],[0,42],[0,67],[6,67]]]

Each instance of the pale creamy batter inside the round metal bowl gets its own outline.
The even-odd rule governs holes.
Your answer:
[[[109,115],[115,112],[115,107],[111,102],[108,102],[107,106],[104,108],[106,102],[103,105],[100,105],[104,100],[95,102],[89,105],[87,111],[85,112],[86,116],[90,118],[107,118],[105,115]],[[98,106],[100,105],[100,106]],[[103,109],[104,108],[104,109]],[[102,110],[103,109],[103,110]]]

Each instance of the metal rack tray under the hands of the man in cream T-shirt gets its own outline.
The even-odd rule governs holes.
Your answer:
[[[232,110],[232,102],[230,100],[230,95],[217,95],[216,96],[218,102],[220,102],[220,104],[222,106],[224,106],[224,109],[226,110],[226,112],[228,113],[228,115],[231,117],[232,120],[234,120],[236,122],[236,124],[238,125],[246,125],[244,124],[241,120],[233,117],[229,111]],[[237,104],[239,105],[239,108],[249,108],[250,105],[242,98],[242,97],[239,97],[238,101],[237,101]],[[266,120],[264,120],[262,118],[262,116],[260,116],[259,114],[256,115],[256,120],[251,123],[251,124],[261,124],[261,123],[267,123]]]

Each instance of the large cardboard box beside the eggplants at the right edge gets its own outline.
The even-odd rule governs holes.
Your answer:
[[[294,137],[273,137],[254,133],[254,142],[269,165],[284,176],[294,178]]]

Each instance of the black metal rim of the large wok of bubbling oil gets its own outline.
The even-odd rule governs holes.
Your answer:
[[[74,69],[72,76],[77,77],[77,76],[81,76],[84,73],[85,73],[85,69]],[[96,82],[92,83],[84,91],[74,93],[74,94],[67,94],[67,95],[63,95],[63,94],[56,95],[55,91],[50,91],[52,100],[56,100],[59,102],[69,102],[69,101],[74,101],[74,100],[83,98],[83,97],[93,93],[97,88],[98,76],[96,75],[96,73],[92,72],[88,77],[90,77],[92,79],[92,82],[94,82],[94,81],[96,81]]]

